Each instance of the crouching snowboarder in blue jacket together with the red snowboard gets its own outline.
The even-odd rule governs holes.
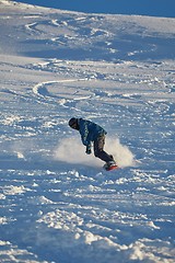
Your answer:
[[[106,162],[104,165],[105,169],[108,170],[112,167],[116,167],[113,156],[104,151],[105,135],[107,134],[104,128],[91,121],[75,117],[69,119],[69,126],[79,130],[82,144],[86,147],[85,152],[88,155],[91,155],[93,144],[94,156]]]

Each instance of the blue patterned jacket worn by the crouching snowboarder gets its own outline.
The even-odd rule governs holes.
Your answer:
[[[79,133],[84,146],[91,146],[91,141],[97,139],[101,135],[106,135],[106,130],[91,121],[79,118]]]

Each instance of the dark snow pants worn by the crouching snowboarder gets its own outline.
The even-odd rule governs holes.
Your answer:
[[[104,151],[105,135],[100,135],[96,140],[94,140],[94,156],[100,158],[105,162],[114,161],[113,156],[109,156]]]

